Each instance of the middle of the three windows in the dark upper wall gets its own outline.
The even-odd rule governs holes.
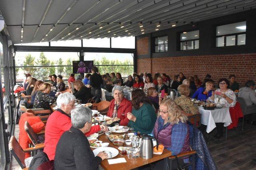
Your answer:
[[[199,30],[180,34],[180,50],[199,49]]]

